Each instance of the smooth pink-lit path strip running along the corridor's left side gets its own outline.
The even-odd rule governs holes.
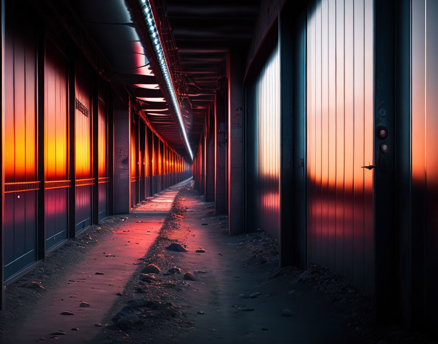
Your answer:
[[[121,215],[112,233],[100,239],[84,259],[62,265],[64,278],[43,294],[33,311],[26,315],[15,335],[4,343],[35,343],[57,337],[63,343],[83,343],[95,336],[111,304],[124,292],[160,230],[184,182],[156,194],[138,205],[131,214]],[[119,216],[118,216],[119,217]],[[85,233],[85,236],[89,236]],[[89,239],[92,240],[91,236]],[[43,265],[44,266],[44,265]],[[24,277],[25,279],[26,277]],[[44,283],[43,283],[44,286]],[[89,304],[81,306],[81,302]],[[85,305],[85,304],[83,304]],[[73,315],[62,315],[71,312]],[[73,330],[73,329],[79,330]],[[57,335],[65,332],[66,335]]]

